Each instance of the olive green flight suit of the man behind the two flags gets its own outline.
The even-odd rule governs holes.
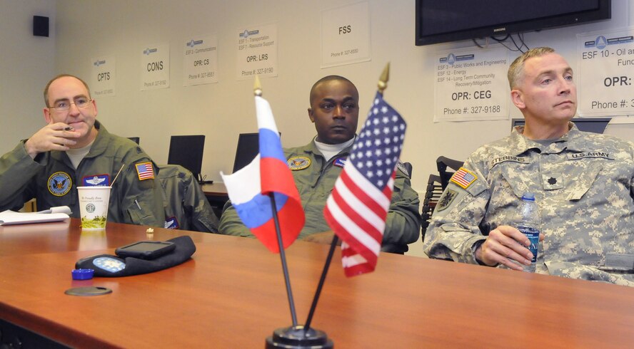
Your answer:
[[[332,230],[323,219],[323,207],[351,149],[352,146],[348,147],[328,162],[324,161],[314,141],[303,147],[284,150],[306,214],[306,224],[298,239]],[[398,167],[401,170],[396,171],[394,192],[383,236],[383,251],[407,251],[407,244],[416,241],[420,236],[418,194],[411,188],[409,175],[406,175],[401,167]],[[219,230],[221,234],[252,236],[248,228],[242,224],[231,202],[225,204]]]

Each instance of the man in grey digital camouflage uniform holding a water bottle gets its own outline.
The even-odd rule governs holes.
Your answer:
[[[536,272],[634,286],[634,144],[570,123],[573,71],[552,48],[518,57],[508,80],[525,127],[480,147],[451,178],[426,254],[522,270],[533,255],[513,226],[522,194],[533,192],[543,233]]]

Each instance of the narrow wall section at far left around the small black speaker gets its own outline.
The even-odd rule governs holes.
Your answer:
[[[33,16],[55,21],[55,1],[0,0],[0,155],[44,124],[44,85],[55,73],[55,30],[33,36]]]

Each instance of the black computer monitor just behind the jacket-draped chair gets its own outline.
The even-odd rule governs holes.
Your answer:
[[[204,147],[204,135],[171,136],[167,163],[185,167],[200,181]]]

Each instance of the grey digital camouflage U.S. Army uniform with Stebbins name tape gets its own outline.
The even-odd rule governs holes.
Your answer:
[[[632,271],[605,266],[608,254],[634,254],[634,144],[570,127],[547,146],[516,127],[473,152],[439,199],[426,254],[477,264],[476,243],[515,226],[523,192],[533,192],[545,235],[538,273],[634,286]]]

